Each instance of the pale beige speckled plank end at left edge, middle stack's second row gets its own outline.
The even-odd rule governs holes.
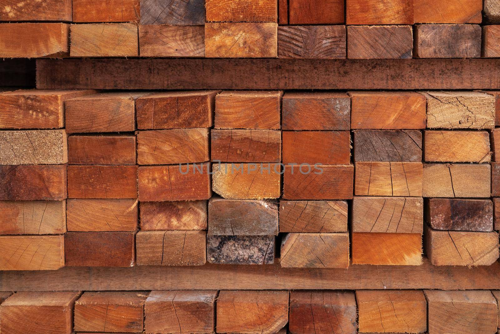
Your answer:
[[[0,165],[67,163],[64,130],[0,131]]]

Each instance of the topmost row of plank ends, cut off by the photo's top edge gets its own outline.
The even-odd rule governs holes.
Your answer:
[[[498,0],[4,0],[0,21],[413,24],[500,22]]]

